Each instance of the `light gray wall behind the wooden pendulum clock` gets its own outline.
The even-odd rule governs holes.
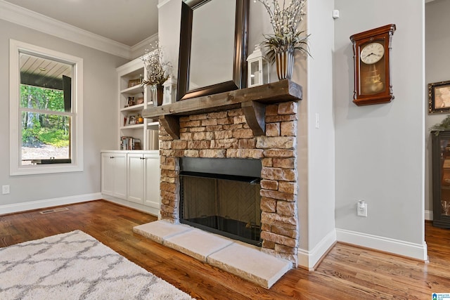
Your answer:
[[[336,228],[423,244],[423,1],[336,0],[335,8],[341,15],[335,22]],[[391,56],[395,99],[357,107],[349,37],[390,23],[397,25]],[[367,218],[356,216],[360,199],[368,203]]]

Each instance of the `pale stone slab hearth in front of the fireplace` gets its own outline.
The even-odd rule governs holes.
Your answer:
[[[270,288],[293,264],[250,244],[207,233],[184,224],[155,221],[133,228],[150,240]]]

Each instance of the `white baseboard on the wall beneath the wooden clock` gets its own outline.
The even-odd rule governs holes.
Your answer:
[[[427,261],[427,244],[415,244],[402,240],[394,240],[389,237],[368,235],[345,229],[336,229],[338,242],[346,242],[361,247],[376,249],[378,251],[389,252],[401,256],[408,256],[420,261]]]

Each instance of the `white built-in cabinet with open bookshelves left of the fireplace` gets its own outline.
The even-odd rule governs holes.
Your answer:
[[[101,152],[101,193],[106,200],[158,216],[160,214],[160,155],[158,122],[142,119],[143,110],[153,105],[141,85],[146,78],[141,58],[117,67],[117,150]],[[129,100],[134,105],[129,105]],[[138,103],[142,101],[142,103]],[[130,120],[134,120],[130,124]],[[137,124],[136,124],[137,123]],[[114,130],[114,129],[113,129]],[[122,136],[140,141],[140,149],[122,149]]]

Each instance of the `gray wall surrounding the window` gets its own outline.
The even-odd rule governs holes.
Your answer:
[[[84,171],[9,176],[9,39],[84,59]],[[100,150],[117,148],[115,67],[127,60],[4,20],[0,20],[0,45],[0,185],[11,185],[11,194],[0,195],[0,209],[6,204],[99,193]]]

